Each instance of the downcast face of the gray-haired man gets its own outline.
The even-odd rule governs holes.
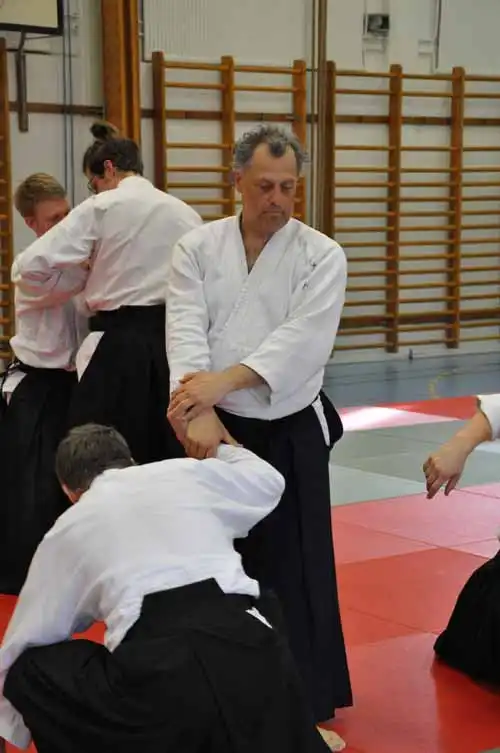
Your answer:
[[[292,148],[283,157],[273,157],[267,144],[260,144],[250,164],[235,174],[244,221],[264,235],[284,227],[293,215],[298,179]]]

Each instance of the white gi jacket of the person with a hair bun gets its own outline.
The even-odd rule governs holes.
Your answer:
[[[172,248],[201,224],[194,209],[145,178],[124,178],[79,204],[17,256],[12,281],[34,306],[45,308],[83,291],[90,315],[164,304]],[[83,278],[76,272],[82,267]],[[86,338],[77,360],[80,375],[100,337],[92,332]]]

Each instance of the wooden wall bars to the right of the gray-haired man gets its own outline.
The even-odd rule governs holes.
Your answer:
[[[499,122],[467,109],[499,101],[500,77],[336,68],[330,96],[334,177],[323,216],[332,218],[323,229],[335,228],[349,259],[337,349],[498,340]],[[385,115],[368,114],[376,101]],[[428,128],[414,115],[424,101],[448,111],[430,114]],[[367,114],[349,114],[356,105]]]

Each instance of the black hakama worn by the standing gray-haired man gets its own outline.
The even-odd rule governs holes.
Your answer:
[[[275,421],[218,410],[233,438],[286,481],[278,507],[237,542],[246,573],[273,590],[316,721],[350,706],[352,693],[340,620],[330,507],[329,454],[342,436],[337,411],[321,395],[327,447],[312,406]]]

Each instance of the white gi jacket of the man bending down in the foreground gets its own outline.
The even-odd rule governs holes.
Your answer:
[[[210,460],[103,473],[33,558],[0,649],[0,691],[26,648],[66,640],[94,621],[106,623],[113,651],[146,594],[214,578],[225,593],[259,596],[233,541],[272,512],[284,485],[266,462],[229,445]],[[21,748],[30,743],[23,719],[3,696],[0,737]]]

